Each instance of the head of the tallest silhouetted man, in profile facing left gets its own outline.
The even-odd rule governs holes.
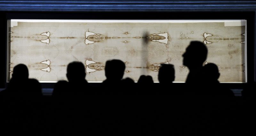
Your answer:
[[[207,58],[207,48],[204,43],[199,41],[191,41],[186,52],[182,55],[183,65],[188,68],[203,66],[203,62]]]

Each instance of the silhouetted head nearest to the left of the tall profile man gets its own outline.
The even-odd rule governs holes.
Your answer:
[[[161,64],[158,71],[158,81],[160,83],[172,83],[175,79],[175,70],[172,64]]]

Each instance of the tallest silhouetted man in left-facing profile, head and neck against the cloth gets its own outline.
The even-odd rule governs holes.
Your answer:
[[[182,55],[183,65],[187,66],[189,73],[186,83],[198,83],[202,81],[203,63],[207,58],[207,48],[204,43],[191,41],[186,52]]]

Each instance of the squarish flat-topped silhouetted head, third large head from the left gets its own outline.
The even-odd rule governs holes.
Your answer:
[[[125,64],[121,60],[108,60],[105,65],[105,76],[110,80],[121,80],[124,76]]]

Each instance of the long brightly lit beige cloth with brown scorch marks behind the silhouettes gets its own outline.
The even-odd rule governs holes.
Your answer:
[[[40,82],[66,79],[68,63],[81,61],[86,80],[105,80],[107,60],[125,62],[124,77],[150,75],[160,64],[175,67],[175,82],[188,68],[182,54],[190,41],[208,48],[204,62],[219,67],[220,82],[246,82],[246,20],[9,20],[7,81],[15,65],[28,66]],[[198,52],[200,53],[200,52]]]

